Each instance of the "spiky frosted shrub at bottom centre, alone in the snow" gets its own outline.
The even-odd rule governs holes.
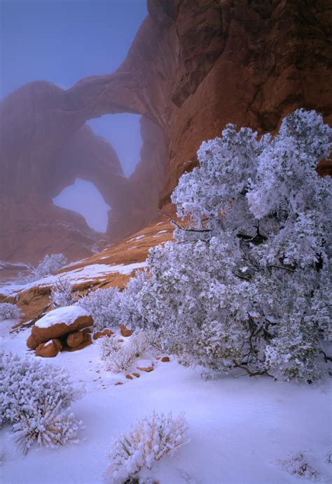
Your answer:
[[[151,469],[165,455],[173,454],[188,443],[188,425],[183,415],[153,412],[148,418],[137,422],[130,432],[113,441],[111,465],[106,474],[114,482],[124,482],[137,477],[143,467]]]

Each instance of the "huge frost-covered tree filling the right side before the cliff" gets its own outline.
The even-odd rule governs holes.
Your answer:
[[[331,148],[332,129],[303,110],[274,138],[228,124],[202,143],[172,194],[186,226],[150,250],[149,277],[123,292],[125,318],[186,364],[319,378],[332,335],[332,183],[316,166]]]

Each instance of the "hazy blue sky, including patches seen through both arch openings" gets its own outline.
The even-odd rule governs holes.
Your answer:
[[[146,0],[0,0],[0,7],[1,99],[32,80],[67,89],[86,76],[111,73],[147,15]],[[129,176],[139,161],[139,116],[107,115],[88,124],[112,143]],[[80,211],[104,232],[107,206],[96,192],[78,180],[57,204]]]

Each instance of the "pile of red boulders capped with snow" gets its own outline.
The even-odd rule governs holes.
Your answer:
[[[82,350],[92,343],[92,316],[79,306],[50,311],[37,320],[27,339],[36,356],[55,357],[60,351]]]

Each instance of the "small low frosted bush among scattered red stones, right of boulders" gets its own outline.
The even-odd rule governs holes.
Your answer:
[[[118,343],[115,338],[102,338],[101,357],[106,370],[121,373],[129,369],[134,359],[134,349],[130,344]]]

